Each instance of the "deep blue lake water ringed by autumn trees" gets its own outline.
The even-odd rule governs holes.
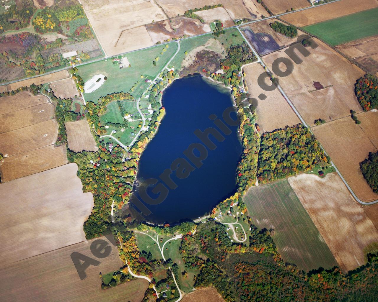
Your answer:
[[[221,89],[221,90],[220,90]],[[147,145],[139,161],[137,180],[142,183],[149,178],[159,179],[164,169],[172,162],[186,156],[183,151],[192,143],[203,143],[194,135],[196,129],[204,131],[208,127],[217,127],[208,117],[216,114],[222,119],[223,111],[232,106],[231,94],[225,88],[210,83],[200,75],[175,80],[163,94],[163,106],[166,115],[161,121],[155,137]],[[231,117],[236,119],[236,108]],[[175,172],[172,180],[178,185],[169,189],[166,199],[158,205],[145,203],[152,213],[146,220],[155,223],[177,222],[195,219],[209,213],[218,202],[234,193],[236,189],[236,166],[242,146],[237,133],[237,126],[228,126],[232,133],[223,134],[225,140],[218,142],[212,136],[216,149],[208,149],[208,157],[200,168],[195,168],[185,179],[178,179]],[[220,131],[220,133],[222,133]],[[199,156],[199,152],[195,151]],[[159,179],[159,183],[164,183]],[[151,190],[147,193],[153,198],[157,195]],[[139,192],[135,193],[141,199]]]

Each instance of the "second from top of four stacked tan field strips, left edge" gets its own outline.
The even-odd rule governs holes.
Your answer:
[[[0,116],[0,133],[41,123],[54,117],[55,106],[43,103]]]

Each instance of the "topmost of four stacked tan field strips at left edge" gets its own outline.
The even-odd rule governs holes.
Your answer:
[[[0,116],[12,111],[25,109],[47,103],[48,98],[42,95],[33,96],[29,91],[22,91],[14,96],[0,98]]]

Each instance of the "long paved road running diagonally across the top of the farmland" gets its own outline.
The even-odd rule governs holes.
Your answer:
[[[333,3],[333,2],[338,2],[338,1],[341,1],[341,0],[335,0],[335,1],[332,1],[332,2],[328,2],[328,3],[323,3],[323,4],[319,4],[319,5],[316,5],[316,6],[309,6],[309,7],[306,7],[306,8],[301,8],[301,9],[297,9],[295,11],[290,11],[290,12],[284,12],[282,14],[279,14],[279,15],[273,15],[273,16],[270,16],[270,17],[266,17],[264,19],[258,19],[258,20],[253,20],[251,22],[246,22],[246,23],[243,23],[242,25],[234,25],[234,26],[231,26],[229,28],[239,28],[239,26],[244,26],[244,25],[247,25],[247,24],[251,24],[251,23],[255,23],[255,22],[260,22],[262,20],[268,20],[268,19],[271,19],[271,18],[277,18],[277,17],[280,17],[280,16],[283,16],[283,15],[287,15],[287,14],[292,14],[293,12],[298,12],[298,11],[304,11],[306,9],[311,9],[311,8],[315,8],[315,7],[318,7],[318,6],[322,6],[322,5],[327,5],[329,3]],[[88,19],[89,20],[89,19]],[[92,26],[93,27],[93,26]],[[226,29],[229,29],[229,28],[226,28]],[[205,32],[204,34],[199,34],[199,35],[194,35],[194,36],[191,36],[191,37],[186,37],[186,38],[182,38],[182,39],[178,39],[178,40],[175,40],[175,41],[170,41],[170,42],[166,42],[164,44],[169,44],[169,43],[175,43],[175,42],[178,42],[180,40],[187,40],[187,39],[193,39],[195,37],[200,37],[201,35],[208,35],[210,34],[210,32]],[[99,39],[97,39],[101,45],[101,42]],[[79,64],[76,64],[75,66],[82,66],[82,65],[87,65],[87,64],[91,64],[91,63],[94,63],[94,62],[99,62],[99,61],[102,61],[102,60],[105,60],[105,59],[108,59],[108,58],[111,58],[111,57],[115,57],[117,55],[125,55],[125,54],[130,54],[132,52],[135,52],[135,51],[139,51],[139,50],[142,50],[142,49],[149,49],[149,48],[153,48],[155,47],[156,45],[152,45],[152,46],[148,46],[148,47],[144,47],[144,48],[140,48],[140,49],[136,49],[136,50],[133,50],[133,51],[127,51],[127,52],[121,52],[119,54],[116,54],[116,55],[105,55],[105,57],[102,57],[102,58],[99,58],[99,59],[95,59],[95,60],[92,60],[92,61],[87,61],[87,62],[83,62],[83,63],[79,63]],[[102,46],[101,46],[102,47]],[[102,47],[102,49],[104,50],[104,48]],[[104,53],[105,53],[105,50],[104,50]],[[44,74],[40,74],[40,75],[34,75],[33,77],[27,77],[27,78],[23,78],[23,79],[20,79],[20,80],[14,80],[14,81],[11,81],[11,82],[7,82],[7,83],[2,83],[0,85],[8,85],[8,84],[11,84],[11,83],[16,83],[16,82],[19,82],[19,81],[22,81],[22,80],[27,80],[27,79],[34,79],[36,77],[40,77],[41,75],[46,75],[46,74],[52,74],[54,72],[58,72],[58,71],[62,71],[62,70],[65,70],[65,69],[69,69],[71,66],[66,66],[66,67],[63,67],[63,68],[60,68],[60,69],[56,69],[54,71],[49,71],[49,72],[45,72]]]

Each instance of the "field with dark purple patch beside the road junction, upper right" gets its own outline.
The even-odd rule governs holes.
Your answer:
[[[242,27],[246,38],[254,46],[259,55],[268,54],[297,42],[297,37],[290,38],[275,32],[270,27],[270,23],[274,23],[275,21],[280,22],[280,20],[274,18]],[[304,32],[298,30],[298,35],[301,34],[304,34]]]

